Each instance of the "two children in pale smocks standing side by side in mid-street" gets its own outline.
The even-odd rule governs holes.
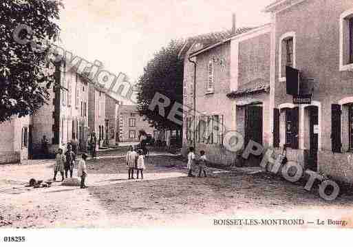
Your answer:
[[[126,166],[127,173],[129,174],[129,180],[133,178],[133,171],[136,169],[136,175],[138,179],[139,173],[141,173],[141,179],[143,179],[143,170],[145,167],[145,155],[143,155],[142,149],[133,149],[132,146],[129,147],[126,155]]]

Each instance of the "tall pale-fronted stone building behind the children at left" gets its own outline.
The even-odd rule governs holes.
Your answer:
[[[75,139],[85,149],[88,134],[88,91],[87,81],[76,72],[56,66],[55,78],[62,86],[50,88],[50,100],[32,118],[32,141],[34,154],[40,154],[41,140],[45,136],[50,153],[58,147],[66,147]]]

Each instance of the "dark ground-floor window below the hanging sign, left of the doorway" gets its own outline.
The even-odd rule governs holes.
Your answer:
[[[286,110],[286,146],[299,148],[299,108]]]

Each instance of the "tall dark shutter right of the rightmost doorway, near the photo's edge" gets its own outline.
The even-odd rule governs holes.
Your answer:
[[[331,105],[331,144],[333,153],[341,153],[341,105]]]

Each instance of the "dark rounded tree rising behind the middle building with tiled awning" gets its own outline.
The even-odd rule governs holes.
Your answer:
[[[151,126],[157,129],[182,129],[167,116],[175,102],[182,104],[182,81],[184,67],[178,58],[182,48],[182,41],[171,41],[167,47],[157,52],[144,68],[144,74],[138,79],[138,111],[146,116]],[[171,100],[169,107],[165,108],[165,116],[158,114],[158,107],[149,110],[149,105],[156,93],[167,96]],[[182,118],[180,118],[182,120]]]

